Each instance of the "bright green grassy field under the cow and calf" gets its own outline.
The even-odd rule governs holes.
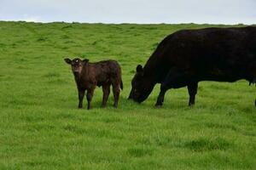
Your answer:
[[[186,88],[154,103],[128,101],[137,64],[166,35],[210,25],[0,22],[0,169],[255,169],[256,107],[248,82],[201,82],[195,106]],[[119,108],[78,110],[65,57],[117,59]],[[86,100],[84,100],[86,106]]]

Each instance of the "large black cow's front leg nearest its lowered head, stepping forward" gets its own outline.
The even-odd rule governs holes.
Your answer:
[[[155,107],[160,107],[164,103],[166,91],[171,88],[183,88],[187,86],[188,77],[183,71],[172,69],[169,71],[165,81],[161,83],[160,94],[157,98]]]

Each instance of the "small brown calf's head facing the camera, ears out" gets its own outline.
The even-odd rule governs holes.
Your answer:
[[[64,59],[66,61],[66,63],[68,65],[71,65],[71,69],[73,71],[73,74],[76,75],[76,74],[81,74],[82,72],[82,69],[83,69],[83,65],[84,63],[88,62],[89,59],[79,59],[79,58],[76,58],[76,59]]]

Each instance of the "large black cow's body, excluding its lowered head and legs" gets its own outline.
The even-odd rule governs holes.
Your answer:
[[[248,68],[254,69],[255,63],[256,27],[205,28],[166,37],[148,59],[145,71],[154,74],[157,82],[172,67],[202,80],[236,81],[247,78]]]

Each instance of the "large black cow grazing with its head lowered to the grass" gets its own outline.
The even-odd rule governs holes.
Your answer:
[[[160,42],[144,67],[137,65],[129,99],[143,102],[160,83],[156,107],[168,89],[185,86],[194,105],[198,82],[240,79],[256,82],[255,26],[177,31]]]

